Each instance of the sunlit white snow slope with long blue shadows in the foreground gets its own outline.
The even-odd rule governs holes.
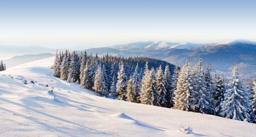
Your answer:
[[[256,134],[252,123],[96,96],[94,91],[54,77],[53,61],[54,57],[1,71],[0,136]],[[190,125],[193,132],[181,133],[182,124]]]

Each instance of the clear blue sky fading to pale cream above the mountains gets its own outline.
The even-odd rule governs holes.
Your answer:
[[[0,45],[256,41],[254,0],[0,0]]]

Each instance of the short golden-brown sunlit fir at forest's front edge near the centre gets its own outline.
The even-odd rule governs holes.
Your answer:
[[[137,100],[136,100],[136,92],[135,92],[135,85],[133,83],[133,78],[131,77],[128,81],[128,84],[127,84],[127,93],[126,93],[126,101],[128,102],[134,102],[136,103]]]

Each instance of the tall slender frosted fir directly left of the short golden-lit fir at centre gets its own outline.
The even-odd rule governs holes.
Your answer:
[[[120,100],[126,100],[126,86],[127,86],[127,76],[124,70],[124,64],[121,62],[119,65],[119,71],[117,76],[116,92],[119,94],[118,98]]]

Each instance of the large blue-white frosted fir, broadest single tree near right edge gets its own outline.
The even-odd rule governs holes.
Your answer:
[[[224,93],[224,100],[220,103],[219,115],[229,119],[250,121],[249,102],[247,102],[246,89],[240,79],[238,67],[235,65],[229,85]]]

